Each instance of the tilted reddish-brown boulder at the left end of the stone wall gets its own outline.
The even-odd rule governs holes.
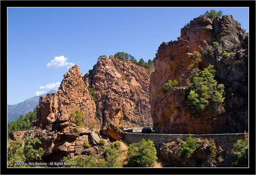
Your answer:
[[[124,139],[124,137],[125,137],[124,132],[120,128],[118,128],[117,126],[115,126],[113,124],[110,124],[108,127],[106,127],[106,126],[103,127],[100,130],[100,132],[115,141]]]

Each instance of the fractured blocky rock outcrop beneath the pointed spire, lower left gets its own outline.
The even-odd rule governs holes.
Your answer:
[[[42,142],[40,147],[45,151],[42,156],[44,161],[60,161],[64,156],[76,156],[78,154],[89,155],[91,151],[98,153],[101,136],[96,134],[94,130],[89,128],[74,127],[73,123],[65,122],[67,125],[60,130],[46,128],[38,130],[36,135]],[[86,147],[84,143],[88,143],[90,147]],[[108,144],[109,140],[105,140]]]

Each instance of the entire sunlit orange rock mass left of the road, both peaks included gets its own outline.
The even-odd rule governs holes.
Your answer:
[[[130,126],[132,122],[139,126],[152,125],[147,73],[144,67],[113,57],[101,58],[84,78],[77,65],[70,67],[59,90],[42,96],[37,105],[35,133],[45,151],[42,159],[60,161],[67,155],[98,153],[100,139],[106,139],[106,143],[109,139],[88,126],[101,128],[110,122],[119,126]],[[90,87],[95,88],[96,98],[90,95]],[[75,124],[76,110],[83,112],[83,127]],[[124,138],[121,129],[117,126],[113,129],[118,130],[118,138],[109,134],[109,130],[105,134],[114,140]],[[93,147],[85,148],[84,142]]]

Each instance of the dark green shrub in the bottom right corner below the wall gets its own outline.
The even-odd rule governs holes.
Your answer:
[[[232,167],[248,167],[248,142],[246,140],[237,140],[231,151],[234,160]]]

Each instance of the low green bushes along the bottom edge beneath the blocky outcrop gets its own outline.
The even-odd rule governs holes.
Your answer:
[[[70,156],[63,157],[61,162],[64,163],[77,163],[77,165],[66,165],[64,167],[122,167],[120,161],[117,161],[122,149],[120,141],[109,144],[104,150],[102,156],[98,158],[91,155],[81,155],[71,159]]]

